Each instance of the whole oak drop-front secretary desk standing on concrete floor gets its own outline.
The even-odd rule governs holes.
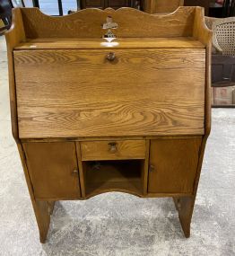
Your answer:
[[[211,36],[201,7],[13,10],[13,137],[41,243],[55,201],[107,191],[173,198],[189,236],[210,133]]]

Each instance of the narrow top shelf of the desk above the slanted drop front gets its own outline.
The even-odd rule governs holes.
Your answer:
[[[14,50],[21,49],[205,49],[205,46],[193,37],[177,38],[123,38],[107,43],[103,39],[67,39],[39,38],[26,40]]]

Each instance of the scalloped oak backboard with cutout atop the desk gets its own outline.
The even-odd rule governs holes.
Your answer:
[[[198,7],[201,9],[200,7]],[[118,38],[192,36],[196,7],[180,7],[166,16],[151,15],[132,8],[117,11],[84,9],[62,17],[51,17],[37,8],[22,8],[26,37],[33,38],[100,38],[101,24],[107,16],[117,22]],[[125,19],[123,18],[125,17]]]

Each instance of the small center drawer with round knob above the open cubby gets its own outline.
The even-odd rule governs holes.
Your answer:
[[[145,140],[83,141],[83,161],[144,159]]]

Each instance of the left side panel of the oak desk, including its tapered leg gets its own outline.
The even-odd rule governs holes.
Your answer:
[[[22,150],[22,144],[18,135],[18,121],[17,121],[17,105],[15,95],[15,81],[14,81],[14,66],[13,66],[13,49],[22,40],[25,40],[25,31],[22,22],[22,13],[20,9],[13,9],[12,27],[5,33],[7,57],[8,57],[8,76],[9,76],[9,94],[11,104],[11,121],[12,121],[12,133],[18,147],[18,151],[22,161],[23,172],[25,180],[27,182],[28,190],[30,193],[30,200],[35,213],[37,224],[39,227],[39,240],[41,243],[45,243],[48,234],[48,227],[50,223],[50,214],[48,209],[53,210],[54,202],[48,203],[48,201],[39,201],[34,197],[32,184],[30,181],[30,175],[27,165],[25,163],[25,156]]]

